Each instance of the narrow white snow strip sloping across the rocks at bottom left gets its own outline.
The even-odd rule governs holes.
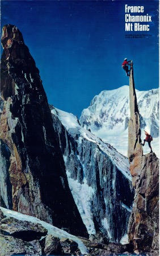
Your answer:
[[[7,217],[13,217],[13,218],[16,218],[16,220],[30,221],[32,223],[41,224],[45,229],[48,230],[48,234],[52,234],[52,236],[59,237],[59,238],[67,237],[70,240],[73,240],[73,241],[77,242],[79,250],[81,250],[81,253],[83,255],[88,254],[87,247],[82,243],[82,241],[79,240],[77,237],[67,233],[66,231],[64,231],[62,229],[58,229],[55,226],[52,226],[52,225],[48,224],[47,222],[41,221],[41,220],[39,220],[39,218],[24,215],[22,213],[14,212],[13,210],[5,209],[5,208],[2,208],[2,207],[0,207],[0,209],[2,210],[2,212]]]

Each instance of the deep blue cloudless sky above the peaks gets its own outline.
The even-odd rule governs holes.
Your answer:
[[[142,33],[125,32],[125,4],[144,6],[151,36],[125,39]],[[1,27],[10,23],[22,32],[49,104],[79,117],[102,90],[129,84],[125,57],[133,59],[136,89],[158,88],[158,9],[154,0],[1,1]]]

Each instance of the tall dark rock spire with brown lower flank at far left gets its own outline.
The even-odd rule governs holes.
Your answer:
[[[3,27],[2,46],[2,203],[85,236],[39,69],[17,27]]]

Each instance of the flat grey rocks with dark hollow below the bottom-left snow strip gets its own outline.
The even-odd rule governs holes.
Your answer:
[[[40,238],[48,230],[40,224],[16,220],[1,213],[1,255],[31,254],[41,255]]]

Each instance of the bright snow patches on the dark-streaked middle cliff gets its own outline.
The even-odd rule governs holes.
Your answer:
[[[112,163],[117,166],[117,171],[121,171],[123,175],[127,177],[127,179],[132,180],[132,176],[130,175],[129,171],[128,158],[117,152],[115,148],[110,146],[110,144],[104,143],[101,139],[96,137],[96,135],[79,125],[77,117],[75,117],[73,114],[66,113],[56,108],[52,110],[52,113],[60,119],[62,125],[65,126],[66,130],[68,130],[72,137],[77,138],[76,135],[79,135],[78,143],[82,143],[83,139],[95,143],[97,145],[95,157],[97,152],[99,152],[99,149],[102,150],[104,154],[110,157]],[[77,155],[77,158],[80,160],[79,155]],[[67,159],[65,155],[64,160],[66,163]],[[74,197],[74,201],[77,205],[79,213],[81,214],[83,223],[85,224],[89,234],[95,234],[95,226],[91,213],[91,201],[93,199],[94,189],[87,184],[85,176],[83,177],[83,184],[80,184],[78,180],[71,178],[69,170],[66,170],[66,174],[68,176],[71,193]],[[103,179],[105,181],[106,177],[104,176]],[[115,186],[115,180],[112,180],[112,186]],[[111,232],[106,217],[102,220],[102,225],[107,230],[108,236],[111,238]]]

